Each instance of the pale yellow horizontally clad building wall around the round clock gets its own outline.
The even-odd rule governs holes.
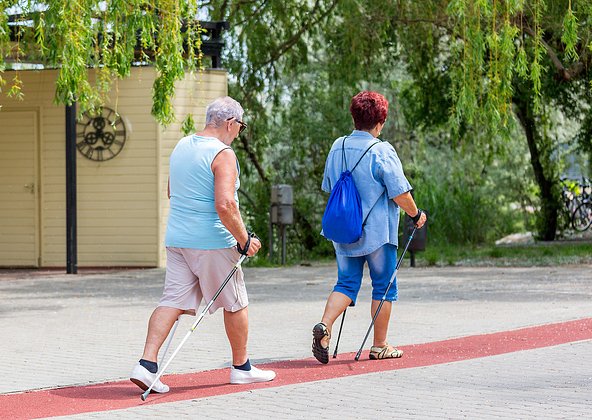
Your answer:
[[[66,265],[65,109],[53,103],[56,76],[53,70],[22,71],[24,101],[0,98],[0,112],[27,109],[38,115],[41,267]],[[134,68],[113,88],[106,106],[122,116],[127,130],[119,155],[96,162],[77,152],[79,267],[164,265],[168,157],[182,134],[180,123],[163,128],[150,114],[155,77],[153,68]],[[203,125],[205,104],[227,92],[226,77],[225,71],[188,75],[176,90],[177,117],[193,110],[197,126]]]

